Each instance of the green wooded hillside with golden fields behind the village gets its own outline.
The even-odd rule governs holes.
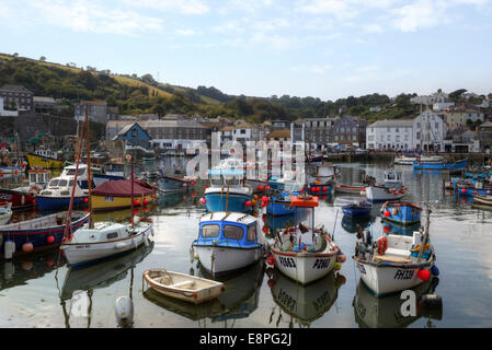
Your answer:
[[[118,74],[110,69],[77,67],[75,62],[60,65],[39,59],[0,54],[0,86],[19,84],[35,96],[52,97],[57,104],[68,105],[67,116],[73,116],[73,106],[80,101],[105,101],[117,107],[119,115],[198,114],[204,117],[231,117],[249,122],[266,120],[296,120],[336,117],[345,114],[358,116],[369,122],[380,119],[411,118],[420,113],[421,100],[415,93],[348,96],[336,101],[318,97],[276,96],[254,97],[229,95],[214,86],[184,88],[155,80],[151,74]],[[490,112],[492,94],[478,95],[459,89],[448,94],[436,92],[439,108],[459,105]],[[440,105],[435,105],[435,104]],[[428,101],[427,101],[428,104]],[[11,106],[4,106],[9,109]]]

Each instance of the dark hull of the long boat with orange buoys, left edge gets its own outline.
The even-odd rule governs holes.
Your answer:
[[[33,220],[20,222],[18,226],[0,226],[0,257],[3,258],[4,243],[11,240],[15,244],[15,252],[13,256],[36,253],[39,250],[57,247],[64,238],[65,221],[62,219],[56,220],[58,214],[52,214],[44,218],[36,218]],[[53,224],[46,224],[47,222]],[[89,213],[81,217],[70,223],[71,232],[76,232],[83,224],[89,222]],[[43,224],[46,226],[43,228]],[[48,243],[48,237],[53,236],[54,241]],[[23,252],[22,246],[24,243],[31,243],[33,245],[32,252]]]

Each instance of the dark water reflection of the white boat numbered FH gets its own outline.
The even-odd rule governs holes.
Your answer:
[[[377,298],[361,280],[352,303],[355,322],[359,327],[364,328],[400,328],[410,326],[421,317],[426,317],[428,318],[427,326],[433,327],[431,319],[440,320],[443,310],[427,310],[420,304],[420,300],[424,294],[434,293],[438,282],[438,278],[434,277],[411,289],[415,293],[416,299],[415,316],[403,316],[401,306],[408,299],[400,299],[401,293]]]

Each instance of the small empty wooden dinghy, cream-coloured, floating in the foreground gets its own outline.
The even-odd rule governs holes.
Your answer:
[[[226,290],[221,282],[165,269],[147,270],[144,280],[156,292],[194,304],[216,299]]]

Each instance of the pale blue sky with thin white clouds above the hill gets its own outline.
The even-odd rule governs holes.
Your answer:
[[[492,92],[492,0],[0,0],[0,52],[247,96]]]

